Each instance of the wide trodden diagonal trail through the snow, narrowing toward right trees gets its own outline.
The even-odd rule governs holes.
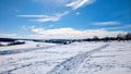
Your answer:
[[[80,53],[75,57],[72,57],[62,63],[56,65],[51,71],[49,71],[47,74],[75,74],[79,66],[84,62],[85,59],[90,58],[91,54],[108,47],[109,45],[104,45],[99,48],[96,48],[92,51]]]

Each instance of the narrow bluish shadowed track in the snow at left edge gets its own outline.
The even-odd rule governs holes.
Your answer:
[[[16,50],[4,50],[4,51],[0,51],[0,55],[23,53],[23,52],[28,52],[28,51],[38,50],[38,49],[48,49],[48,48],[52,48],[52,47],[56,47],[56,46],[36,47],[36,48],[16,49]]]

